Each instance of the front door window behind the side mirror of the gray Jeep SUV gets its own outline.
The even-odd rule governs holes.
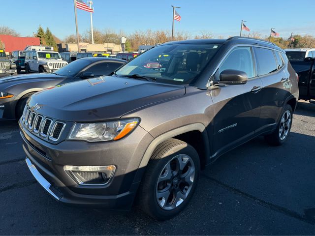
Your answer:
[[[252,50],[250,47],[236,47],[224,59],[216,73],[215,79],[219,80],[220,74],[224,70],[239,70],[247,74],[248,78],[254,77],[254,66]]]

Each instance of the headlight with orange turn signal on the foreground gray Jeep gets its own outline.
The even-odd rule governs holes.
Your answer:
[[[68,139],[88,142],[119,140],[129,134],[138,123],[139,118],[95,123],[75,123]]]

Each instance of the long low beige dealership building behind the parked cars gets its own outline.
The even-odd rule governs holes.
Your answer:
[[[78,52],[78,45],[76,43],[59,43],[57,46],[60,53]],[[122,51],[122,46],[115,43],[79,43],[79,47],[81,52],[108,52],[110,54],[117,54]]]

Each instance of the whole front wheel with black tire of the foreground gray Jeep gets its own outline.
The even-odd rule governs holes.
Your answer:
[[[158,220],[167,220],[189,203],[200,173],[198,153],[189,144],[169,139],[148,163],[138,192],[138,205]]]

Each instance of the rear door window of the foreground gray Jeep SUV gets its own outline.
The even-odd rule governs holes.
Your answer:
[[[266,48],[255,49],[255,56],[257,60],[258,75],[267,75],[278,70],[278,63],[272,50]]]

